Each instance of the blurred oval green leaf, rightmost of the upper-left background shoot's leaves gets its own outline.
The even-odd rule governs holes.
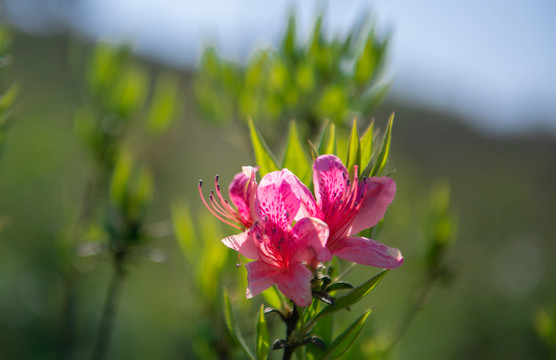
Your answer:
[[[160,134],[167,130],[177,112],[179,82],[169,73],[160,75],[156,81],[148,118],[148,130]]]

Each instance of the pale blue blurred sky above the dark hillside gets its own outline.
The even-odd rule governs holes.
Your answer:
[[[554,0],[3,0],[2,16],[35,34],[73,30],[130,41],[139,54],[188,67],[203,46],[244,60],[278,44],[296,10],[307,38],[325,9],[325,30],[345,32],[367,11],[393,31],[392,93],[463,113],[492,132],[556,132]]]

